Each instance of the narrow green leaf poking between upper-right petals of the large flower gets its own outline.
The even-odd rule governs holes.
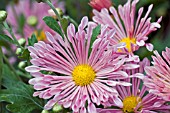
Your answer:
[[[92,51],[92,45],[93,45],[94,41],[96,40],[97,36],[99,35],[100,30],[101,30],[101,25],[98,25],[93,29],[91,41],[90,41],[89,55]]]

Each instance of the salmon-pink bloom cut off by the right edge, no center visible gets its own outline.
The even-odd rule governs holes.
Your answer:
[[[170,48],[162,52],[162,57],[157,51],[154,54],[153,66],[145,68],[148,76],[144,79],[144,84],[151,93],[170,101]]]

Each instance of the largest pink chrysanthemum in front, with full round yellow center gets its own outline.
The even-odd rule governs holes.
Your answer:
[[[117,91],[112,86],[131,85],[108,79],[108,76],[126,78],[128,75],[120,68],[128,66],[123,65],[125,56],[113,58],[112,54],[105,54],[108,41],[103,28],[88,55],[94,24],[87,25],[88,19],[84,17],[78,32],[73,24],[67,28],[67,38],[62,39],[59,35],[55,38],[47,33],[49,44],[39,41],[34,47],[28,47],[33,65],[26,70],[35,77],[29,83],[38,90],[34,96],[50,99],[45,109],[58,103],[74,112],[86,113],[87,104],[88,112],[95,113],[95,105],[117,98]],[[53,74],[40,73],[42,70]]]

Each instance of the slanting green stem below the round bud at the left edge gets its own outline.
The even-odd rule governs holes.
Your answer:
[[[20,47],[22,50],[24,50],[24,48],[19,44],[18,40],[14,36],[14,33],[13,33],[12,29],[8,26],[7,22],[4,21],[3,24],[4,24],[4,27],[7,29],[7,31],[10,33],[10,35],[12,36],[12,38],[15,41],[15,43],[17,44],[17,46]]]

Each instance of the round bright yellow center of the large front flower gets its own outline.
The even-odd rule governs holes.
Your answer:
[[[91,66],[83,64],[74,68],[72,76],[77,86],[86,86],[94,81],[96,73]]]

